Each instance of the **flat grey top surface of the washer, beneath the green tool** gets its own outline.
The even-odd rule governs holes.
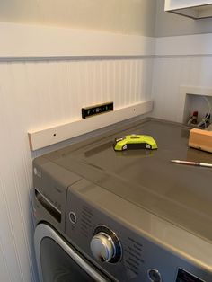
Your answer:
[[[212,163],[212,154],[188,147],[189,132],[180,124],[146,119],[46,157],[211,242],[212,170],[171,163],[172,159]],[[151,135],[158,150],[115,152],[114,138],[132,133]]]

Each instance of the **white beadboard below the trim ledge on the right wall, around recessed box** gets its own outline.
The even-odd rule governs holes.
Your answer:
[[[181,86],[212,87],[212,57],[155,59],[153,116],[181,122]]]

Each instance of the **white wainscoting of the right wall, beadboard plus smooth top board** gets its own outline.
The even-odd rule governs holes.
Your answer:
[[[210,88],[211,64],[211,33],[157,38],[153,116],[181,122],[181,86]]]

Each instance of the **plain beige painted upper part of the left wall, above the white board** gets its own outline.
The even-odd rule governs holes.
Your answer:
[[[155,0],[7,0],[0,22],[154,36]]]

